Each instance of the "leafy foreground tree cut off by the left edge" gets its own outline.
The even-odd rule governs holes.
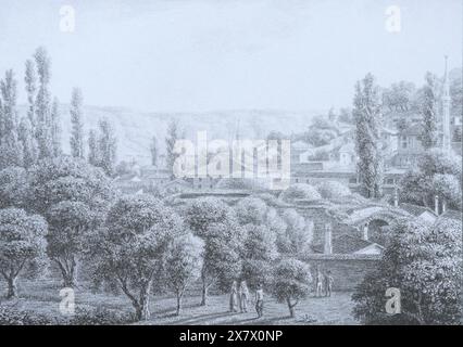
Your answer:
[[[7,297],[15,297],[21,273],[37,275],[45,265],[47,222],[17,208],[0,209],[0,273],[8,284]]]

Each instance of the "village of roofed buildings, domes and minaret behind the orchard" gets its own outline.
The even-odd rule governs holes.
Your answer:
[[[449,73],[447,61],[441,79],[438,104],[438,146],[452,154],[462,154],[462,116],[451,114]],[[406,121],[404,121],[406,118]],[[355,151],[355,126],[346,111],[337,115],[316,117],[311,126],[316,136],[325,136],[326,144],[314,145],[305,140],[306,134],[291,134],[290,184],[317,185],[338,182],[352,193],[359,192],[359,155]],[[237,130],[237,138],[239,129]],[[278,198],[279,191],[272,191],[275,182],[255,176],[255,166],[242,165],[242,177],[237,178],[173,178],[167,169],[165,156],[158,158],[157,166],[139,166],[135,162],[130,172],[114,179],[114,185],[127,194],[154,193],[168,195],[173,204],[185,204],[189,200],[213,196],[230,205],[246,196],[260,196],[279,210],[296,208],[299,214],[314,222],[312,253],[308,260],[320,261],[321,266],[334,269],[342,290],[352,290],[363,279],[384,250],[381,234],[391,221],[401,217],[417,217],[429,223],[440,218],[461,219],[461,211],[447,207],[442,197],[435,196],[434,206],[425,207],[401,202],[398,185],[405,172],[417,165],[426,152],[422,141],[423,115],[416,110],[388,110],[384,114],[380,129],[380,146],[384,158],[384,196],[380,201],[334,196],[329,201],[293,200],[290,203]],[[267,140],[285,139],[278,132],[268,134]],[[256,149],[259,151],[259,149]],[[232,167],[232,165],[230,165]],[[249,171],[254,175],[249,178]],[[230,172],[232,174],[232,172]],[[236,174],[236,172],[234,172]],[[236,176],[235,176],[236,177]],[[278,178],[273,178],[278,180]],[[268,193],[268,192],[272,192]],[[353,261],[353,264],[349,264]],[[339,262],[334,266],[333,262]],[[336,273],[337,271],[343,273]],[[349,275],[346,275],[348,273]]]

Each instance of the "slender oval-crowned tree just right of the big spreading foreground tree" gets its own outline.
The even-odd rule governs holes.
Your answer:
[[[201,275],[203,243],[191,233],[177,236],[168,249],[165,266],[167,286],[177,297],[177,316],[182,311],[185,290]]]

